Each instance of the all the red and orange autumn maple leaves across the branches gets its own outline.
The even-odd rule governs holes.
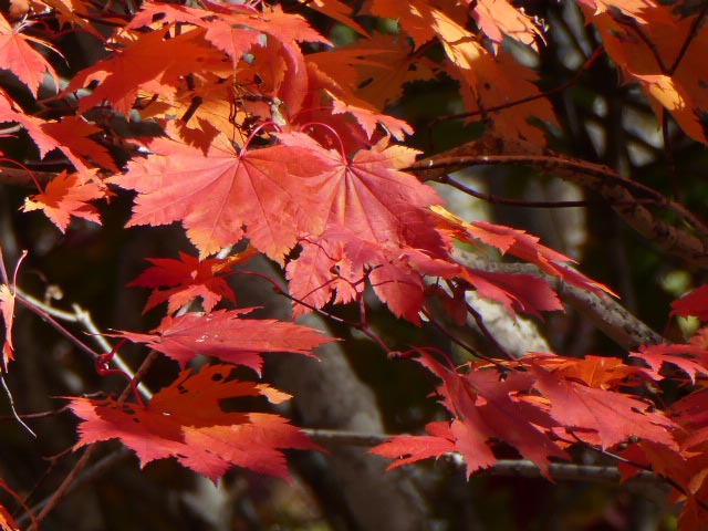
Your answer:
[[[467,222],[436,207],[435,191],[403,170],[416,152],[392,142],[413,129],[384,114],[384,106],[400,97],[406,83],[446,73],[459,83],[471,115],[485,115],[501,135],[543,145],[542,129],[528,118],[553,123],[551,105],[534,84],[534,72],[500,48],[511,38],[538,49],[543,24],[511,2],[369,0],[361,14],[397,20],[394,35],[374,32],[371,39],[348,6],[301,2],[361,37],[335,51],[303,17],[278,6],[206,1],[197,9],[146,1],[129,21],[106,15],[116,31],[104,40],[81,14],[86,4],[52,0],[32,9],[42,3],[60,25],[80,27],[105,44],[106,55],[69,80],[56,100],[62,105],[51,107],[61,119],[50,119],[45,110],[32,114],[25,111],[31,105],[0,94],[2,119],[27,132],[40,158],[59,149],[76,170],[60,174],[29,197],[24,209],[42,209],[62,231],[72,217],[98,221],[91,201],[107,195],[94,175],[101,167],[114,174],[108,183],[137,192],[128,226],[180,222],[199,251],[199,259],[152,260],[153,268],[134,284],[155,290],[146,309],[167,302],[168,315],[150,333],[123,337],[183,367],[202,354],[260,372],[263,352],[311,355],[327,341],[316,332],[242,319],[246,310],[214,311],[222,300],[235,301],[221,277],[233,259],[209,257],[242,238],[287,264],[291,294],[303,303],[295,304],[295,313],[361,301],[368,283],[396,315],[419,323],[426,278],[454,279],[458,288],[475,289],[510,311],[540,315],[562,309],[540,278],[458,263],[454,240],[491,246],[576,287],[604,290],[525,232]],[[657,114],[666,108],[688,135],[706,142],[706,32],[698,31],[698,15],[681,18],[649,0],[579,3],[617,67],[644,88]],[[20,17],[0,18],[0,69],[38,97],[41,88],[59,88],[50,59],[55,50],[49,40],[29,35]],[[304,42],[320,53],[303,53]],[[426,46],[436,44],[441,52],[434,60]],[[154,118],[169,137],[135,140],[142,147],[131,152],[121,174],[107,147],[124,142],[111,131],[117,117],[112,113],[122,115],[118,119]],[[674,313],[705,320],[705,296],[697,290],[675,303]],[[174,315],[195,298],[205,315]],[[7,285],[0,301],[9,331],[14,293]],[[706,393],[687,395],[668,418],[623,391],[642,381],[656,383],[668,371],[699,383],[707,374],[705,337],[704,329],[690,344],[633,353],[646,367],[616,358],[530,355],[508,363],[502,381],[498,367],[476,363],[458,371],[420,351],[418,362],[442,381],[439,396],[451,420],[428,425],[428,436],[396,438],[376,451],[403,457],[394,466],[459,451],[472,472],[493,465],[494,445],[503,441],[548,473],[550,460],[564,458],[570,442],[614,448],[638,438],[639,452],[657,471],[678,478],[690,494],[688,509],[699,514],[696,499],[706,483],[686,464],[706,469]],[[11,345],[8,332],[6,363]],[[118,437],[143,465],[176,457],[211,479],[233,465],[283,477],[279,450],[313,446],[280,417],[220,405],[223,398],[257,395],[284,398],[267,385],[230,379],[229,367],[215,365],[197,374],[185,371],[145,408],[83,398],[71,407],[83,418],[79,446]],[[7,520],[1,507],[0,517]]]

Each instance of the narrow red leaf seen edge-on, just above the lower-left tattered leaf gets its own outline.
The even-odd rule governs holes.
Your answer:
[[[177,361],[181,367],[202,354],[252,368],[260,375],[263,352],[292,352],[315,357],[312,350],[333,341],[320,331],[268,319],[241,319],[253,309],[217,310],[206,315],[166,316],[152,334],[121,332]]]

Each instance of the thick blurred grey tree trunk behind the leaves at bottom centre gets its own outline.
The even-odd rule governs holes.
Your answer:
[[[251,261],[248,270],[277,274],[263,261]],[[242,278],[241,278],[242,279]],[[290,319],[290,302],[260,282],[239,282],[239,305],[268,309],[269,317]],[[300,324],[323,330],[319,315],[306,315]],[[371,434],[384,433],[376,397],[354,373],[342,343],[333,342],[317,348],[321,361],[296,355],[271,356],[267,371],[269,381],[294,395],[292,417],[302,427],[329,428]],[[330,513],[337,529],[417,531],[430,529],[430,516],[410,472],[385,472],[387,460],[366,454],[357,447],[335,445],[329,454],[310,456],[304,464],[305,476],[324,504],[343,504],[346,511]],[[302,458],[300,460],[302,464]],[[313,485],[313,482],[320,483]],[[334,489],[335,491],[332,491]],[[327,512],[331,507],[323,507]],[[337,520],[339,519],[339,520]]]

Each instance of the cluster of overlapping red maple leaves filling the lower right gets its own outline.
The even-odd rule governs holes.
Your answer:
[[[674,314],[708,320],[708,290],[700,287],[675,301]],[[680,529],[702,529],[708,493],[708,326],[686,344],[642,346],[629,353],[641,365],[616,357],[570,358],[529,353],[516,362],[473,362],[455,367],[436,353],[416,348],[410,355],[441,381],[438,399],[450,421],[426,426],[425,436],[396,436],[371,452],[395,459],[388,469],[449,452],[460,454],[468,476],[497,462],[500,442],[533,461],[544,476],[549,465],[568,459],[576,442],[622,456],[623,479],[641,470],[671,478],[671,501],[685,502]],[[500,372],[501,369],[501,372]],[[655,402],[623,389],[655,394],[667,371],[693,386],[666,412]],[[669,373],[670,374],[670,373]],[[633,441],[628,447],[627,441]],[[550,476],[549,476],[550,477]]]

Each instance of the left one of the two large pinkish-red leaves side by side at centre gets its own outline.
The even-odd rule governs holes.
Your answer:
[[[275,145],[238,154],[212,146],[205,155],[165,138],[148,146],[152,155],[107,180],[138,191],[128,227],[181,221],[200,258],[247,236],[278,261],[302,232],[322,230],[310,181],[323,168],[311,148]]]

